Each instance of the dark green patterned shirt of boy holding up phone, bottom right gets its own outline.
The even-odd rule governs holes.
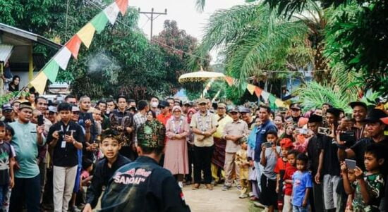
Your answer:
[[[364,180],[370,195],[370,204],[365,204],[361,195],[361,187],[358,181],[354,182],[353,187],[356,187],[353,199],[354,212],[370,212],[380,211],[380,200],[382,192],[384,192],[384,176],[381,173],[367,175],[364,173]]]

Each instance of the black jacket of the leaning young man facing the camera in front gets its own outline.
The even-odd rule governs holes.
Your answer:
[[[109,168],[107,159],[102,158],[102,160],[97,163],[95,168],[92,184],[89,186],[89,188],[87,188],[86,203],[90,204],[92,208],[95,208],[99,196],[101,195],[102,187],[108,185],[109,179],[111,179],[116,170],[128,163],[131,163],[131,161],[119,154],[116,161],[114,161],[111,168]]]

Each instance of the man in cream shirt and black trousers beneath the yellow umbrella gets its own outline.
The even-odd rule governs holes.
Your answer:
[[[201,171],[207,189],[212,190],[212,172],[210,165],[213,154],[213,134],[217,130],[217,118],[206,107],[206,99],[200,99],[200,111],[191,118],[190,127],[194,133],[194,185],[198,189],[201,182]]]

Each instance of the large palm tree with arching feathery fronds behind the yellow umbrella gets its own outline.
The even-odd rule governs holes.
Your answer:
[[[289,19],[262,2],[217,11],[205,27],[196,54],[224,49],[226,73],[241,82],[271,72],[266,70],[300,70],[309,63],[314,70],[326,70],[322,30],[327,22],[320,6],[308,2],[308,9]],[[197,6],[204,3],[197,1]],[[193,58],[189,68],[200,63]]]

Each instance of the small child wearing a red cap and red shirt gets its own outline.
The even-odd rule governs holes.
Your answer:
[[[274,168],[274,173],[277,173],[277,209],[281,211],[283,209],[283,199],[284,199],[284,192],[283,192],[283,177],[284,172],[286,171],[286,168],[289,166],[289,163],[287,163],[287,153],[289,150],[293,149],[293,144],[291,139],[284,138],[280,141],[280,148],[281,148],[281,157],[277,159],[277,164]]]

